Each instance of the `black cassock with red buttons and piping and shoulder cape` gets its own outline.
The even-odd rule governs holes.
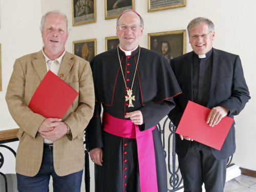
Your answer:
[[[131,56],[125,56],[119,49],[128,89],[132,86],[139,49],[140,47],[133,51]],[[156,126],[174,108],[172,98],[181,93],[181,90],[167,60],[162,55],[142,47],[132,87],[136,100],[133,101],[134,107],[128,107],[129,101],[125,101],[126,88],[117,49],[95,56],[91,66],[96,102],[94,116],[87,127],[88,144],[89,150],[99,147],[103,149],[103,166],[95,165],[95,191],[140,191],[136,139],[104,132],[100,118],[101,105],[103,111],[120,119],[125,119],[126,112],[140,110],[144,124],[139,129],[143,131]],[[166,192],[166,163],[158,129],[153,131],[153,139],[158,191]],[[124,152],[127,152],[125,157]]]

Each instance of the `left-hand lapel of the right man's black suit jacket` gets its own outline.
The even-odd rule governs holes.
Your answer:
[[[187,83],[188,93],[189,93],[189,100],[194,101],[193,96],[193,52],[190,52],[186,55],[186,63],[184,64],[184,70],[185,70],[185,81]]]

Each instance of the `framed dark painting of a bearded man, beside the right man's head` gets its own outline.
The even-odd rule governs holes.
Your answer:
[[[186,53],[186,30],[148,33],[147,44],[170,61]]]

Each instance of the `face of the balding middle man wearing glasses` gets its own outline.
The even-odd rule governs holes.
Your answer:
[[[121,30],[119,26],[116,27],[116,34],[122,49],[126,51],[135,49],[139,44],[141,35],[143,34],[143,27],[140,27],[140,17],[132,11],[127,11],[119,18],[118,25],[138,27],[135,31],[130,27],[127,27],[125,30]]]

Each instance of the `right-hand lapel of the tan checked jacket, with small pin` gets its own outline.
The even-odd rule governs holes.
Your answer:
[[[65,55],[62,58],[61,65],[58,72],[58,77],[62,79],[63,81],[66,79],[66,77],[69,74],[69,71],[71,70],[74,61],[71,60],[74,56],[66,51]]]

